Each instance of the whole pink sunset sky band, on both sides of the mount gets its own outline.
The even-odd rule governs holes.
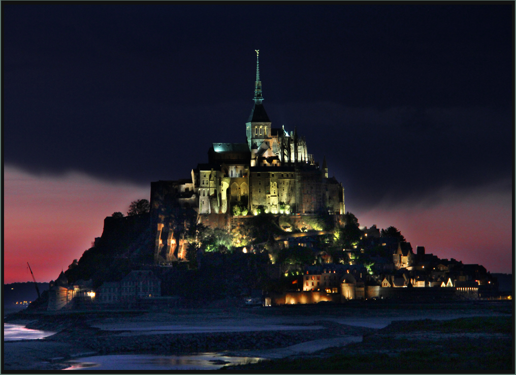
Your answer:
[[[132,200],[149,199],[148,187],[100,181],[84,174],[34,176],[4,167],[4,283],[55,279],[100,237],[104,217],[126,213]],[[470,193],[443,191],[402,205],[369,211],[346,208],[361,225],[391,225],[415,246],[440,258],[512,272],[512,195],[491,187]]]

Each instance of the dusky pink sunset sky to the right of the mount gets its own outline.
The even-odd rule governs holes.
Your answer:
[[[355,214],[361,225],[394,226],[412,247],[492,273],[512,273],[512,195],[486,186],[470,193],[441,192],[428,201],[380,206]]]

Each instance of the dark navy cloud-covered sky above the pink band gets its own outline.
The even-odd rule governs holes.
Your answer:
[[[255,49],[273,127],[297,127],[373,207],[504,181],[513,3],[2,4],[4,163],[148,186],[245,142]]]

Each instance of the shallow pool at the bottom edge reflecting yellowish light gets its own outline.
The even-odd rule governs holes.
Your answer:
[[[263,358],[229,357],[221,353],[187,355],[114,354],[69,361],[65,370],[216,370],[228,365],[256,363]]]

